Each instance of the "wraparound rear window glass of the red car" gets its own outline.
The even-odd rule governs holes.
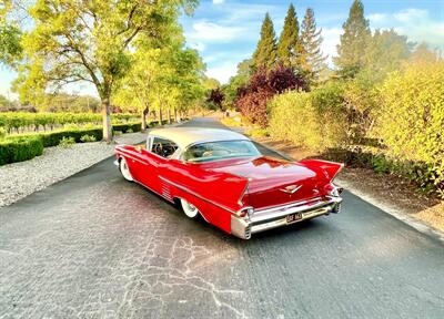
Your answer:
[[[183,160],[188,162],[210,162],[259,155],[258,148],[250,141],[221,141],[192,145],[183,154]]]

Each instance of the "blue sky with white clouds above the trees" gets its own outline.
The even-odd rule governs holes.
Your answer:
[[[236,73],[238,63],[251,58],[254,52],[266,12],[279,37],[290,2],[296,9],[300,23],[306,8],[314,10],[324,39],[322,50],[331,63],[352,0],[201,0],[194,13],[182,17],[180,22],[186,44],[196,49],[205,62],[206,75],[226,83]],[[363,0],[363,3],[372,30],[394,28],[411,41],[424,41],[444,51],[444,0]],[[9,91],[10,82],[16,76],[13,71],[0,66],[0,94],[13,96]],[[70,90],[97,95],[94,89],[88,85]]]

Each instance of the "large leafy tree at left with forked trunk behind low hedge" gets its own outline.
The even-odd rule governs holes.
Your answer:
[[[110,99],[131,69],[135,39],[161,38],[180,8],[190,10],[194,4],[195,0],[38,0],[30,10],[36,28],[24,39],[21,84],[38,82],[44,91],[92,83],[102,104],[103,138],[111,141]]]

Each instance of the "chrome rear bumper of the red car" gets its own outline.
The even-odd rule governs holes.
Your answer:
[[[252,234],[259,231],[300,223],[330,213],[340,213],[341,202],[341,197],[331,196],[260,209],[245,217],[232,215],[231,234],[242,239],[250,239]],[[294,213],[301,213],[302,218],[289,224],[286,216]]]

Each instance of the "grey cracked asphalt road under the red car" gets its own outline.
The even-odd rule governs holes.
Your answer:
[[[0,209],[0,318],[444,318],[444,245],[349,192],[245,241],[112,161]]]

